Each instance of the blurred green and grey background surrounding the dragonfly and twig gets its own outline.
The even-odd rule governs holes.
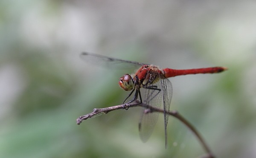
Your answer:
[[[203,135],[218,158],[256,157],[255,0],[1,0],[1,158],[195,158],[204,150],[163,115],[140,141],[140,108],[76,125],[93,108],[118,105],[123,70],[79,57],[87,51],[161,68],[225,66],[177,76],[172,110]]]

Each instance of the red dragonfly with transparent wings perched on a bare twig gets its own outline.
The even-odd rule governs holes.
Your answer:
[[[169,118],[169,109],[172,99],[172,84],[169,77],[197,74],[197,73],[219,73],[227,70],[225,67],[197,68],[186,70],[175,70],[170,68],[160,69],[154,65],[143,64],[140,62],[127,61],[122,59],[110,58],[98,54],[89,54],[83,52],[81,57],[89,62],[105,62],[105,64],[128,64],[140,67],[136,73],[130,75],[125,74],[119,79],[119,86],[125,91],[131,91],[125,101],[135,92],[133,98],[123,102],[126,110],[137,99],[142,104],[160,108],[163,105],[164,130],[165,130],[165,145],[167,145],[167,123]],[[144,98],[141,96],[141,90],[144,90]],[[148,108],[143,107],[139,121],[139,133],[143,142],[146,142],[150,137],[155,124],[157,123],[159,113],[148,112]]]

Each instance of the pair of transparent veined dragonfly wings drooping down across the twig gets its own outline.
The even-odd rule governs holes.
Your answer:
[[[146,85],[144,88],[144,100],[145,104],[153,107],[160,108],[163,104],[163,109],[169,111],[171,98],[172,98],[172,84],[162,74],[155,71],[150,71],[148,75],[153,76],[156,82],[152,82],[150,85]],[[159,113],[148,113],[147,108],[143,108],[141,112],[139,131],[140,138],[143,142],[148,141],[148,138],[154,130],[154,126],[157,123]],[[165,133],[168,122],[169,114],[164,113],[165,121]],[[167,137],[166,137],[167,138]]]

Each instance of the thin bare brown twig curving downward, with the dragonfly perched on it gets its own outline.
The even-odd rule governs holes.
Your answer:
[[[87,118],[91,118],[99,113],[108,113],[111,112],[113,110],[118,110],[118,109],[127,109],[128,107],[145,107],[148,110],[148,113],[153,113],[153,112],[160,112],[160,113],[164,113],[164,111],[162,109],[156,108],[156,107],[152,107],[150,105],[147,104],[139,104],[140,101],[136,100],[130,104],[121,104],[121,105],[116,105],[116,106],[112,106],[112,107],[106,107],[106,108],[101,108],[101,109],[93,109],[92,113],[89,113],[87,115],[84,116],[80,116],[79,118],[76,119],[76,124],[81,124],[82,121],[86,120]],[[200,135],[200,133],[195,129],[195,127],[192,126],[192,124],[189,123],[189,121],[187,121],[183,116],[181,116],[177,111],[169,111],[169,115],[174,116],[175,118],[177,118],[178,120],[180,120],[183,124],[185,124],[186,127],[188,127],[192,133],[195,134],[195,136],[198,138],[199,142],[201,143],[202,147],[204,148],[204,150],[207,152],[206,155],[204,155],[201,158],[214,158],[214,155],[212,154],[210,148],[208,147],[208,145],[206,144],[206,142],[204,141],[204,139],[202,138],[202,136]]]

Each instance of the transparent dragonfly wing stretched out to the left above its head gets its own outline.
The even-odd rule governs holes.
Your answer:
[[[108,56],[103,56],[103,55],[99,55],[99,54],[91,54],[91,53],[87,53],[87,52],[81,53],[80,57],[86,62],[92,63],[94,65],[109,67],[109,68],[131,69],[131,68],[138,68],[141,65],[145,65],[140,62],[116,59],[116,58],[111,58]]]

